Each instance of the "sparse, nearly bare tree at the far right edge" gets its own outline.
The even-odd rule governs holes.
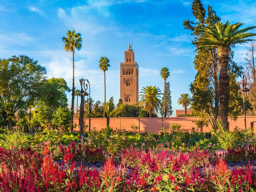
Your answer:
[[[244,54],[244,62],[242,63],[245,75],[247,77],[247,84],[250,88],[249,102],[251,108],[247,110],[248,115],[256,116],[256,57],[255,57],[255,42],[251,39],[247,48],[247,52]]]

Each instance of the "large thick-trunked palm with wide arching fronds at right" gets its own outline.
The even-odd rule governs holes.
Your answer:
[[[229,91],[229,52],[230,46],[236,43],[245,43],[251,41],[255,33],[247,33],[248,30],[255,28],[246,27],[239,29],[242,23],[230,24],[226,21],[225,24],[218,22],[215,27],[204,27],[202,30],[197,30],[201,33],[201,37],[197,39],[195,44],[197,49],[202,48],[217,48],[219,57],[219,96],[220,96],[220,117],[225,128],[228,125],[228,102],[230,97]]]

